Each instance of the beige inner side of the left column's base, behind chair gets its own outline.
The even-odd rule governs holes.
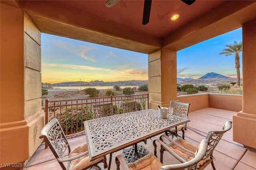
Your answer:
[[[27,122],[28,127],[28,151],[29,151],[29,158],[34,154],[36,149],[41,145],[43,139],[39,139],[40,136],[40,129],[44,127],[44,119],[45,112],[44,110],[38,111],[34,115],[25,119]],[[29,159],[28,159],[29,160]],[[28,162],[26,160],[25,163]]]

